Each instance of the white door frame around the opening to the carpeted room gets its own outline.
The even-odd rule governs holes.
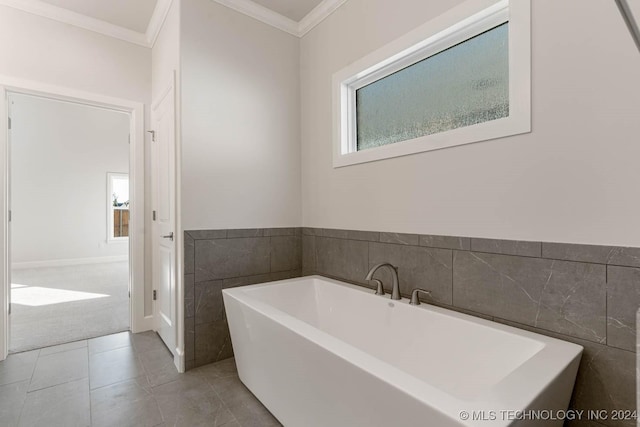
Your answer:
[[[153,314],[145,316],[144,310],[144,104],[62,86],[0,76],[0,360],[4,360],[9,352],[10,333],[9,93],[35,95],[130,114],[129,191],[131,218],[129,226],[129,289],[131,296],[129,299],[129,325],[131,332],[134,333],[153,329]]]

